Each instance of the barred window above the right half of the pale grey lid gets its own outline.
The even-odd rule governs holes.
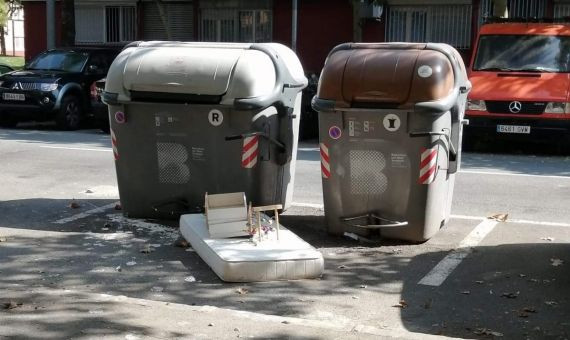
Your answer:
[[[273,37],[271,10],[201,10],[200,40],[224,42],[267,42]]]

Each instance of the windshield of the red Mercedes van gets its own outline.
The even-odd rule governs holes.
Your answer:
[[[570,72],[570,37],[483,35],[473,70]]]

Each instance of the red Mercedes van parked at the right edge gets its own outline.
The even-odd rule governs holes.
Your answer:
[[[481,134],[568,143],[570,24],[485,24],[474,51],[468,143]]]

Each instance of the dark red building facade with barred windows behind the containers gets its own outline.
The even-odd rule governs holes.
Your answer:
[[[24,0],[23,5],[29,59],[46,48],[45,1]],[[570,0],[508,0],[508,9],[510,17],[561,18],[570,16]],[[382,6],[298,0],[297,53],[307,73],[319,73],[331,48],[353,41],[356,29],[366,42],[448,43],[468,60],[477,30],[492,10],[493,0],[387,0]],[[75,0],[76,44],[174,40],[291,46],[292,16],[292,0]]]

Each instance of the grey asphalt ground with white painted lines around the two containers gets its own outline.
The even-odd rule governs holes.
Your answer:
[[[282,222],[322,252],[325,275],[252,284],[172,246],[175,222],[113,209],[108,135],[0,130],[0,159],[0,302],[15,303],[0,338],[570,337],[567,156],[466,153],[433,239],[368,243],[322,231],[319,153],[302,143]]]

